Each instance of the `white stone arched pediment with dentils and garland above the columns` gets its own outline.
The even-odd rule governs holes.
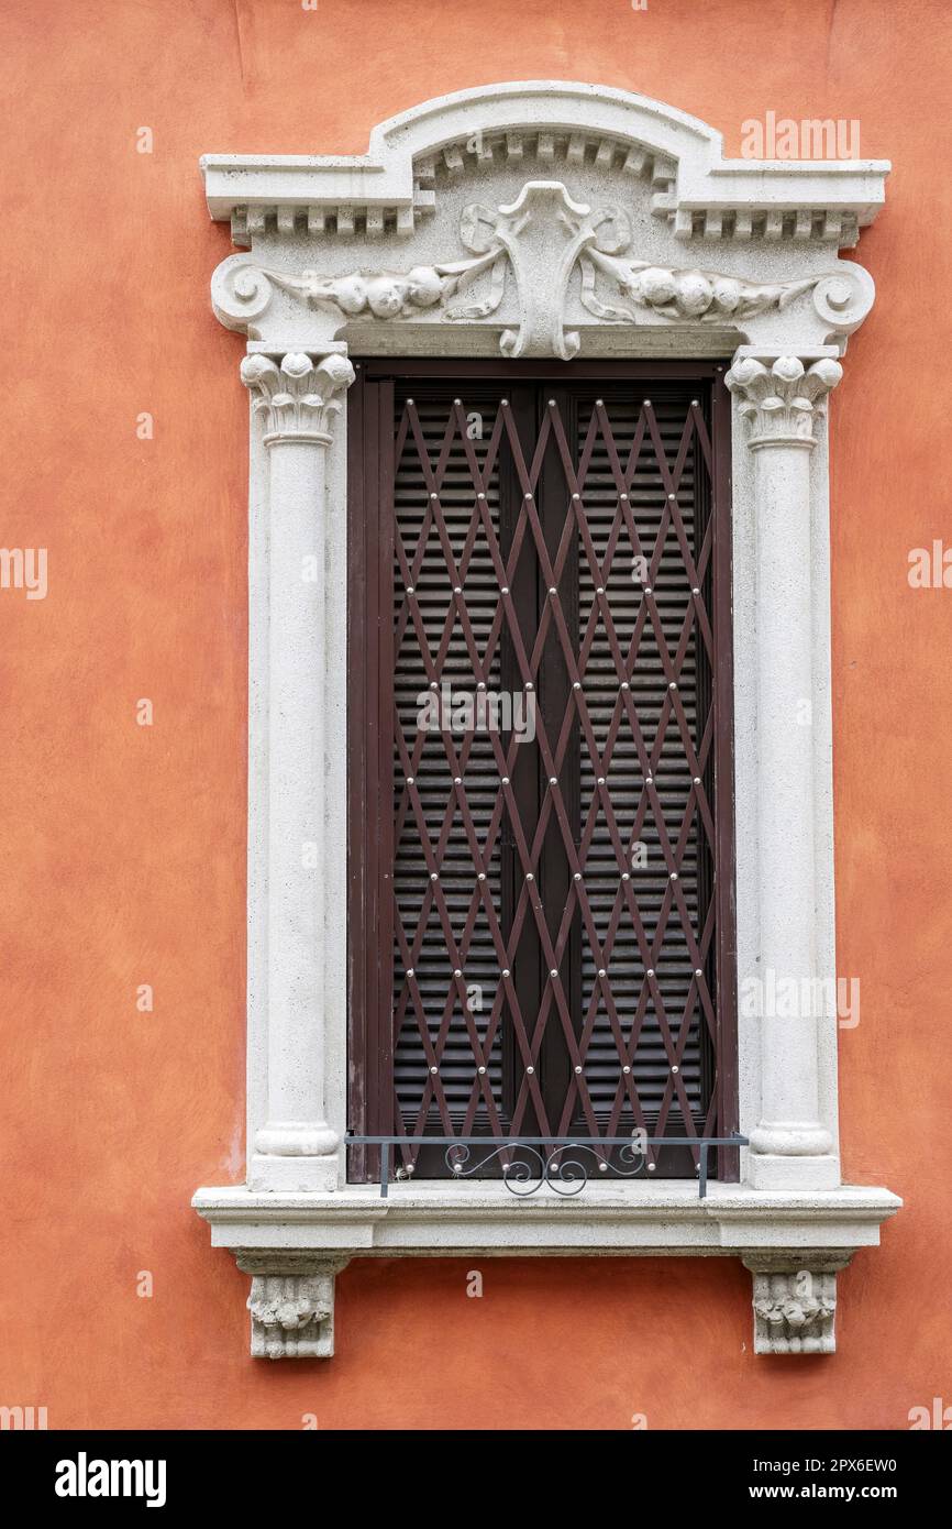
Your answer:
[[[714,128],[601,86],[425,102],[362,156],[206,156],[225,324],[269,349],[507,356],[833,347],[873,283],[836,260],[888,164],[730,161]],[[310,338],[309,338],[310,336]]]

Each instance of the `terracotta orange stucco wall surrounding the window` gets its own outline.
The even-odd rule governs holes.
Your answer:
[[[0,592],[0,1402],[50,1428],[905,1428],[952,1402],[952,590],[906,579],[952,541],[952,8],[5,0],[0,32],[0,543],[49,549],[44,601]],[[753,1358],[733,1260],[486,1261],[483,1300],[461,1261],[364,1261],[338,1358],[269,1367],[188,1203],[241,1177],[244,1044],[248,405],[197,157],[355,153],[429,96],[541,76],[657,96],[729,153],[767,110],[857,118],[894,162],[833,401],[833,674],[845,1165],[908,1205],[840,1277],[830,1359]]]

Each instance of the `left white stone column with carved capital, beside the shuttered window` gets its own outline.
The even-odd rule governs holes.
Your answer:
[[[251,1190],[338,1185],[324,1095],[325,471],[353,376],[342,355],[241,362],[269,456],[267,1119]]]

